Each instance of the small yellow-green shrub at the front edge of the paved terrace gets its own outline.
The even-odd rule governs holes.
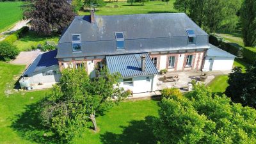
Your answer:
[[[162,90],[162,96],[166,99],[175,98],[180,99],[182,97],[182,93],[178,88],[165,88]]]

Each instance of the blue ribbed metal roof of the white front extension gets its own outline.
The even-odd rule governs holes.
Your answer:
[[[141,56],[146,56],[145,71],[141,70]],[[122,77],[152,76],[158,74],[148,53],[106,56],[111,73],[119,72]]]

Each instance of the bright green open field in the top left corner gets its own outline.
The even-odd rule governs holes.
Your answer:
[[[22,19],[22,2],[0,2],[0,33]]]

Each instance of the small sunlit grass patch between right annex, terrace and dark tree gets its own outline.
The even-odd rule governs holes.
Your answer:
[[[212,89],[212,92],[225,92],[228,83],[228,76],[216,76],[208,86]]]

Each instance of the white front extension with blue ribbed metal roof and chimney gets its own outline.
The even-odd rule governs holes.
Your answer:
[[[106,56],[109,72],[122,75],[120,86],[133,93],[154,92],[157,69],[147,53]]]

